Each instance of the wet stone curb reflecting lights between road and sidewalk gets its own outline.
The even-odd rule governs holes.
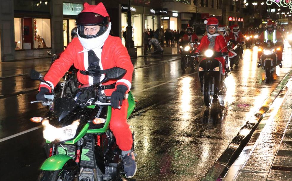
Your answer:
[[[218,160],[213,164],[205,177],[202,179],[203,181],[222,180],[230,166],[240,155],[240,153],[250,140],[252,133],[258,127],[259,122],[265,116],[265,113],[269,110],[270,106],[279,95],[279,93],[282,91],[282,89],[285,87],[291,76],[292,69],[286,74],[286,76],[282,79],[280,84],[277,86],[277,88],[274,89],[270,96],[266,98],[260,109],[254,114],[254,116],[250,118],[249,121],[247,121],[247,123],[233,138],[233,140],[222,153],[222,155],[218,158]]]

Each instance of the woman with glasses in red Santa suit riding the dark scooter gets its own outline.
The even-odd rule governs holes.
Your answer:
[[[218,20],[217,18],[209,18],[204,22],[206,25],[207,35],[203,36],[201,43],[195,53],[202,53],[207,49],[213,49],[215,52],[227,53],[227,44],[222,35],[218,34]],[[224,48],[225,47],[225,48]],[[198,51],[199,50],[199,51]],[[222,64],[222,74],[225,75],[225,59],[223,57],[215,58]]]

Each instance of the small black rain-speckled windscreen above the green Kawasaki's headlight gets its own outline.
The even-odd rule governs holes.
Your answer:
[[[54,114],[58,118],[58,121],[61,121],[77,107],[79,107],[79,105],[74,99],[62,97],[54,101]]]

